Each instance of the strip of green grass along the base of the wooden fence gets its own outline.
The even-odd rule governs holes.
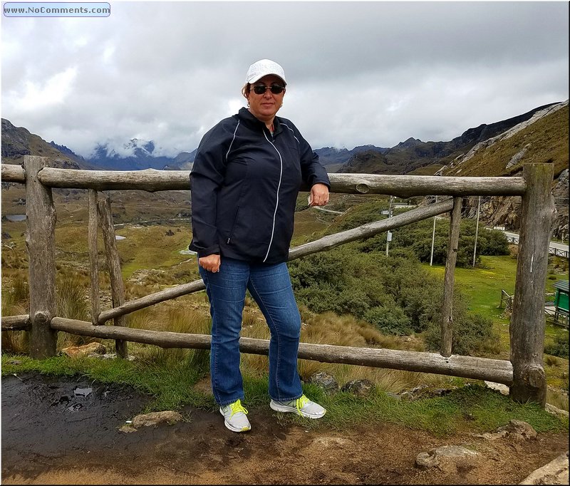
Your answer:
[[[180,354],[182,350],[177,351]],[[212,395],[195,391],[192,386],[204,374],[201,366],[192,363],[192,352],[185,359],[173,356],[163,363],[147,361],[71,359],[55,357],[36,361],[18,356],[17,361],[4,355],[2,376],[36,371],[48,375],[82,376],[101,383],[133,386],[152,400],[140,413],[159,410],[180,410],[192,405],[204,410],[217,408]],[[202,369],[201,369],[202,368]],[[250,408],[269,410],[266,376],[251,377],[244,373],[244,404]],[[497,391],[473,383],[456,388],[437,398],[407,401],[396,400],[375,388],[367,398],[351,393],[326,394],[321,388],[304,384],[304,393],[317,400],[327,413],[321,420],[304,420],[295,415],[279,414],[282,423],[305,428],[343,430],[366,423],[393,423],[405,428],[425,430],[439,436],[452,433],[482,433],[496,430],[509,420],[524,420],[537,432],[561,433],[569,428],[568,419],[560,419],[533,403],[520,404]]]

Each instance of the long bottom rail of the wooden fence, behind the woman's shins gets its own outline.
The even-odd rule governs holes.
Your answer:
[[[115,326],[93,326],[86,321],[55,317],[51,320],[53,329],[81,336],[103,339],[122,338],[128,341],[153,344],[161,348],[209,349],[211,336],[184,334],[170,331],[147,331],[144,329],[120,328]],[[242,353],[268,355],[269,341],[265,339],[240,338]],[[473,356],[450,356],[418,351],[397,351],[380,348],[356,348],[329,344],[299,343],[299,358],[321,363],[347,363],[359,366],[375,366],[421,373],[436,373],[461,376],[477,380],[494,381],[510,385],[512,365],[506,360],[476,358]]]

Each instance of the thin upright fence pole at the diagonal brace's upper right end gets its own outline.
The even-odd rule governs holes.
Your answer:
[[[455,281],[455,264],[457,263],[457,248],[459,247],[459,229],[461,222],[462,198],[453,199],[451,212],[450,239],[447,243],[447,258],[445,259],[445,276],[443,279],[443,304],[441,322],[442,356],[451,356],[453,339],[453,283]]]

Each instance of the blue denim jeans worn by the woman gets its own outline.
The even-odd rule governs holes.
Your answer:
[[[219,405],[244,399],[239,371],[239,332],[246,289],[265,316],[269,341],[269,395],[289,401],[303,394],[297,372],[301,316],[285,263],[249,264],[222,255],[219,272],[199,267],[206,285],[212,315],[210,373],[212,391]]]

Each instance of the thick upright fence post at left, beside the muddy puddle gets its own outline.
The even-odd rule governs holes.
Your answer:
[[[57,333],[49,326],[56,315],[56,208],[51,187],[42,185],[38,172],[48,157],[24,155],[26,170],[26,247],[30,291],[31,358],[56,356]]]

